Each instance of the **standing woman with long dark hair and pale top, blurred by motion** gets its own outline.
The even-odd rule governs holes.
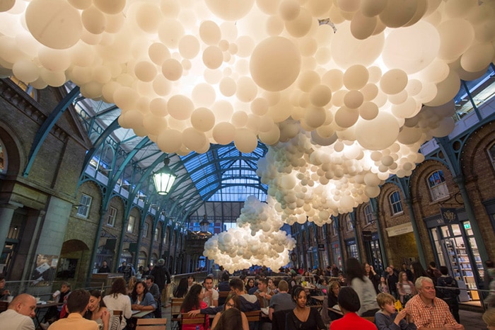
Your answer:
[[[349,258],[346,262],[347,283],[356,291],[361,302],[357,312],[360,317],[374,317],[378,312],[376,290],[371,280],[366,276],[363,266],[356,258]]]

